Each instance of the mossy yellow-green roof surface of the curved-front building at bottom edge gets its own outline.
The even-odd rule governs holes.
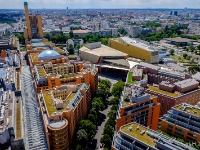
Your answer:
[[[137,129],[139,127],[139,129]],[[129,130],[131,129],[131,130]],[[144,134],[141,134],[141,131],[145,131]],[[139,141],[141,141],[142,143],[145,143],[151,147],[155,147],[155,142],[154,142],[154,138],[150,137],[148,134],[147,134],[147,131],[148,129],[143,127],[143,126],[140,126],[139,124],[136,124],[136,123],[131,123],[131,124],[128,124],[128,125],[125,125],[123,127],[121,127],[121,131]],[[151,132],[153,132],[151,130]],[[154,133],[154,132],[153,132]],[[157,134],[155,132],[155,134]]]

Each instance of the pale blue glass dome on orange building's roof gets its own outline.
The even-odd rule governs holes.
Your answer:
[[[39,60],[53,60],[59,58],[62,58],[62,56],[58,52],[50,49],[45,50],[38,55]]]

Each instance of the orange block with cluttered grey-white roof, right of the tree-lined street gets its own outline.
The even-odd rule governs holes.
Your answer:
[[[144,88],[126,85],[120,98],[116,130],[130,122],[137,122],[157,130],[160,104],[157,97],[144,93]]]

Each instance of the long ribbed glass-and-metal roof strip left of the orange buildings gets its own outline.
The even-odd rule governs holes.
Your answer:
[[[27,150],[47,150],[43,122],[29,66],[22,67],[21,81],[25,148]]]

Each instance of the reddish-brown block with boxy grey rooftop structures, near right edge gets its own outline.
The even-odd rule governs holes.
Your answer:
[[[158,97],[162,108],[160,117],[175,105],[181,103],[196,105],[199,102],[199,81],[188,73],[144,62],[139,63],[136,68],[142,69],[143,74],[147,76],[148,84],[145,87],[143,85],[145,93]]]

